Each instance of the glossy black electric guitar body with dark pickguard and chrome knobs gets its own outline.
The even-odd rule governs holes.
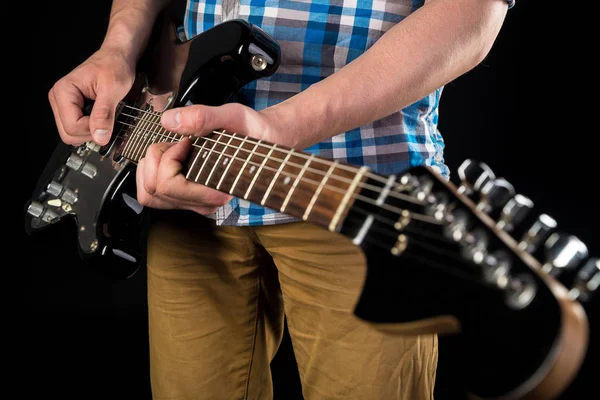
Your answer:
[[[277,43],[242,20],[182,42],[165,14],[150,43],[124,100],[129,106],[120,105],[129,113],[224,104],[279,66]],[[143,265],[148,220],[148,210],[136,200],[136,165],[121,157],[121,131],[116,124],[111,142],[102,148],[59,143],[26,206],[25,221],[33,233],[72,219],[81,258],[116,279],[132,276]]]

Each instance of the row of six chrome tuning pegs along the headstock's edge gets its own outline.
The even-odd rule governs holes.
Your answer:
[[[466,160],[458,175],[457,198],[471,209],[472,218],[492,226],[513,254],[526,260],[537,272],[552,276],[569,288],[572,299],[581,302],[591,299],[600,284],[600,260],[590,256],[585,243],[561,230],[548,214],[538,212],[530,198],[517,193],[506,179],[496,177],[485,163]],[[468,236],[468,232],[463,233]],[[491,268],[497,272],[494,262],[489,255],[482,260],[488,271]],[[500,285],[513,282],[510,271],[502,271],[500,275],[492,274],[492,281]]]

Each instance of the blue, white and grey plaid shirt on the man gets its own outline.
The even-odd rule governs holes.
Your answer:
[[[507,0],[512,3],[513,0]],[[188,0],[184,37],[234,18],[247,20],[281,46],[279,69],[244,88],[240,102],[255,109],[272,106],[363,54],[422,0]],[[512,4],[510,4],[512,6]],[[444,141],[438,124],[442,88],[388,117],[339,134],[309,153],[382,174],[429,165],[447,178]],[[280,212],[234,198],[211,216],[218,225],[269,225],[297,221]]]

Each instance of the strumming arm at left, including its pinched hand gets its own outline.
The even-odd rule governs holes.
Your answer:
[[[50,89],[61,139],[68,144],[95,140],[108,143],[115,109],[131,89],[135,67],[150,38],[154,22],[171,0],[114,0],[100,49]],[[95,100],[90,116],[84,99]]]

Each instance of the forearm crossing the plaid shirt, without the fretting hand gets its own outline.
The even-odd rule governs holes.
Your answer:
[[[425,97],[483,60],[506,10],[502,0],[432,0],[344,68],[264,110],[286,121],[273,140],[306,148]]]

